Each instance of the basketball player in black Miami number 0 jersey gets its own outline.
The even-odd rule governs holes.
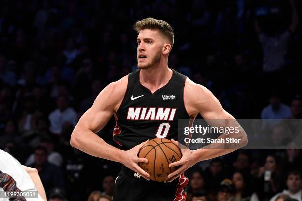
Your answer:
[[[164,183],[149,181],[149,174],[138,166],[139,162],[148,162],[138,158],[140,148],[156,137],[173,138],[176,139],[173,143],[178,144],[178,119],[193,119],[198,113],[210,120],[234,120],[234,117],[208,89],[168,67],[174,33],[167,22],[147,18],[138,21],[134,28],[138,32],[139,69],[100,92],[77,123],[71,145],[90,155],[123,164],[116,179],[114,201],[184,201],[183,188],[188,179],[183,172],[199,161],[235,149],[182,149],[181,160],[170,164],[180,168],[169,175],[170,182]],[[122,150],[95,134],[113,114],[116,120],[113,138]],[[242,147],[247,138],[244,132],[241,134]]]

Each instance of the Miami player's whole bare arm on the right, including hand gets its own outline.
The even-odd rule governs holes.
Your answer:
[[[247,144],[246,133],[237,123],[235,118],[222,108],[217,98],[208,89],[192,82],[189,78],[187,78],[184,88],[184,103],[186,110],[191,117],[194,118],[198,113],[200,113],[211,126],[239,127],[238,133],[230,133],[229,136],[240,139],[240,143],[236,144],[236,146],[232,148],[225,148],[225,144],[210,144],[197,150],[182,148],[181,151],[183,156],[181,160],[169,165],[169,167],[181,167],[168,175],[168,177],[170,178],[169,181],[173,181],[174,179],[179,177],[181,173],[183,173],[189,167],[192,167],[199,161],[225,155],[240,147],[246,146]],[[226,138],[226,135],[222,134],[221,136],[219,136],[219,138]],[[172,142],[176,145],[179,145],[178,142],[174,140],[172,140]]]

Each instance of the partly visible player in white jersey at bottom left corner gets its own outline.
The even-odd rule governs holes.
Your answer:
[[[36,198],[26,196],[3,198],[4,192],[37,193]],[[27,191],[27,192],[24,192]],[[38,171],[35,168],[22,166],[17,159],[0,149],[0,201],[47,201],[45,190]],[[28,194],[30,196],[30,194]]]

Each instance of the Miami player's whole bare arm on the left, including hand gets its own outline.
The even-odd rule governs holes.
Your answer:
[[[71,135],[71,146],[95,157],[120,162],[126,167],[138,172],[147,179],[149,174],[138,166],[138,162],[147,159],[137,157],[144,143],[133,149],[123,151],[106,143],[97,134],[116,112],[124,98],[128,76],[109,84],[103,89],[89,108],[79,119]]]

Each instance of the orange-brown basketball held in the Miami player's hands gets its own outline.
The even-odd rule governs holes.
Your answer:
[[[139,163],[139,166],[149,173],[150,179],[163,182],[167,181],[168,175],[178,168],[170,168],[169,164],[179,161],[182,153],[172,141],[155,138],[141,148],[138,157],[148,159],[148,163]]]

